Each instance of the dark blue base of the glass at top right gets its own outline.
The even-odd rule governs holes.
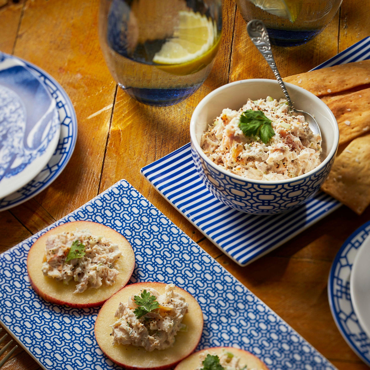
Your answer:
[[[307,41],[316,37],[322,29],[319,30],[277,30],[275,28],[267,28],[270,42],[276,46],[298,46],[305,44]]]

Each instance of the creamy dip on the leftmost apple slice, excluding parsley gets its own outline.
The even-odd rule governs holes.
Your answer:
[[[66,262],[74,242],[84,245],[85,255]],[[82,293],[90,284],[98,288],[105,283],[112,285],[118,275],[114,262],[121,251],[104,236],[93,236],[88,231],[63,232],[46,241],[46,261],[42,265],[44,275],[68,284],[71,279],[78,282],[74,293]]]

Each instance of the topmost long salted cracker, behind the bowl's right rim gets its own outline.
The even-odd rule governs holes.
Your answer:
[[[370,60],[334,65],[283,78],[318,97],[370,83]]]

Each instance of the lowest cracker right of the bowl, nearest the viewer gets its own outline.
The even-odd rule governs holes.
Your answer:
[[[350,142],[321,189],[361,214],[370,204],[370,134]]]

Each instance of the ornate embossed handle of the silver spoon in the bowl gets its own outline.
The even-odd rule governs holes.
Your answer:
[[[277,82],[279,83],[280,87],[283,90],[285,98],[289,104],[289,108],[293,109],[292,100],[290,100],[289,94],[286,90],[284,82],[280,76],[279,71],[277,70],[276,63],[271,51],[271,44],[269,35],[267,33],[265,24],[259,19],[252,19],[247,24],[247,31],[249,34],[250,39],[252,40],[253,44],[255,44],[258,51],[263,55],[266,62],[269,64],[270,68],[272,69]]]

